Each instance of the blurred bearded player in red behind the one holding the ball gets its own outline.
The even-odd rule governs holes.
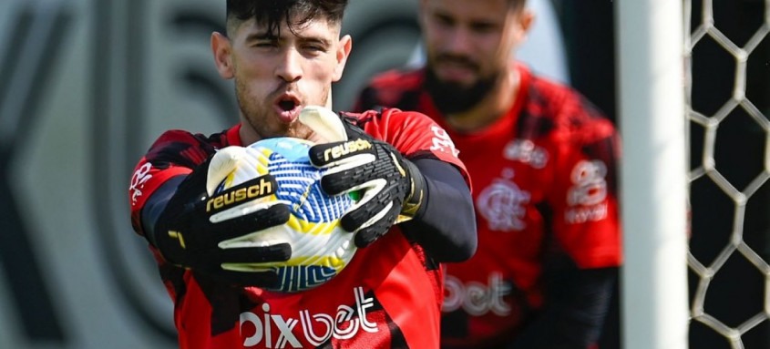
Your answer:
[[[478,250],[447,265],[442,346],[595,346],[621,265],[616,130],[514,59],[525,0],[421,0],[419,18],[426,66],[375,77],[356,108],[426,113],[471,174]]]

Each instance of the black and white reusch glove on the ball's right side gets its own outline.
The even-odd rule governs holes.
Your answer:
[[[310,159],[314,166],[327,169],[321,178],[327,194],[360,192],[361,198],[340,224],[355,233],[357,247],[365,247],[396,222],[416,214],[425,179],[392,145],[372,138],[347,120],[344,123],[349,139],[313,146]]]

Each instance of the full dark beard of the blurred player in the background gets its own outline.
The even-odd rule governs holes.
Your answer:
[[[436,108],[446,116],[476,106],[495,87],[499,76],[496,74],[490,77],[481,77],[475,84],[466,87],[459,83],[442,81],[436,76],[433,68],[428,66],[426,69],[426,90],[433,98]]]

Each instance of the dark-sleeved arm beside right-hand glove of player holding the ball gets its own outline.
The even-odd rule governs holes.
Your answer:
[[[436,262],[462,262],[476,251],[476,216],[465,179],[437,159],[413,161],[425,178],[425,198],[415,219],[402,224]]]

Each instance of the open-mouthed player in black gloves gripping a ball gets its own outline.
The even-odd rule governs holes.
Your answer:
[[[383,185],[366,190],[364,198],[375,198],[343,217],[360,248],[354,259],[309,291],[270,292],[275,273],[223,266],[291,258],[285,243],[220,244],[283,224],[289,219],[285,205],[212,222],[216,210],[204,204],[217,149],[281,136],[319,140],[297,118],[304,106],[332,105],[331,85],[342,76],[351,50],[350,36],[340,33],[346,5],[228,0],[227,33],[213,33],[211,49],[221,77],[234,80],[240,122],[210,136],[167,131],[139,160],[128,193],[131,221],[149,241],[174,301],[181,348],[438,346],[439,262],[469,258],[476,228],[466,169],[447,133],[430,118],[397,109],[344,114],[351,141],[310,150],[314,159],[329,147],[343,149],[343,160],[374,155],[347,170],[327,163],[329,172],[341,172],[324,177],[324,190],[354,190],[364,181]],[[247,183],[273,181],[268,174]],[[266,194],[274,190],[261,188]],[[248,200],[256,199],[236,203]],[[411,221],[394,225],[398,215]]]

